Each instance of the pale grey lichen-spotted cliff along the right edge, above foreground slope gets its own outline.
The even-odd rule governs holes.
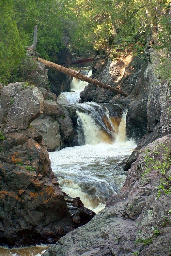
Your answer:
[[[150,61],[143,73],[147,87],[146,112],[147,112],[147,131],[141,143],[130,155],[125,170],[130,168],[130,164],[136,160],[138,150],[153,142],[155,139],[171,133],[171,87],[168,81],[161,79],[160,58],[164,51],[151,49]],[[168,62],[170,56],[167,56]],[[141,111],[137,113],[141,115]]]

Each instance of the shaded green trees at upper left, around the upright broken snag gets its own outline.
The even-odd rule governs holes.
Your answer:
[[[33,42],[36,24],[37,51],[42,58],[55,61],[56,52],[65,47],[63,31],[67,28],[69,34],[74,20],[66,0],[1,0],[0,14],[0,82],[4,84],[11,75],[14,82],[24,81],[20,72],[27,72],[25,49]]]

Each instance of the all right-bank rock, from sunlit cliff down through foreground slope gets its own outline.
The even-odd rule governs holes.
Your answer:
[[[131,59],[124,73],[117,73],[122,73],[120,88],[129,96],[113,96],[92,85],[81,93],[82,101],[127,107],[127,135],[141,143],[126,163],[121,192],[110,196],[106,208],[88,224],[49,248],[46,256],[170,255],[170,85],[158,72],[163,52],[150,49],[147,54],[148,61]],[[112,84],[116,70],[123,70],[119,63],[114,65],[109,60],[102,71],[108,72],[104,79]]]

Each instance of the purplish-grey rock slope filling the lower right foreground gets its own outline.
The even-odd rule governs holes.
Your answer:
[[[161,252],[169,255],[171,199],[166,195],[157,198],[155,187],[162,174],[153,166],[145,182],[142,174],[146,166],[144,157],[154,157],[156,148],[159,154],[155,154],[155,159],[164,163],[165,146],[170,148],[170,139],[165,136],[144,147],[128,171],[121,192],[109,198],[109,207],[88,224],[66,234],[45,256],[161,256]]]

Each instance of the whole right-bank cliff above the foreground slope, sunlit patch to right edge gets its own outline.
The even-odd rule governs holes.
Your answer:
[[[153,134],[155,138],[160,134],[169,134],[170,86],[169,82],[160,78],[159,72],[160,58],[164,54],[162,50],[150,48],[146,51],[146,55],[141,57],[128,54],[119,61],[112,61],[109,58],[101,66],[96,63],[93,67],[93,75],[95,77],[98,75],[98,80],[117,86],[129,95],[121,97],[89,84],[80,94],[81,102],[109,102],[127,108],[127,137],[134,139],[137,143],[142,141],[147,132],[155,131]],[[170,56],[165,57],[170,59]],[[99,66],[103,67],[102,71]],[[100,74],[98,70],[101,71]]]

